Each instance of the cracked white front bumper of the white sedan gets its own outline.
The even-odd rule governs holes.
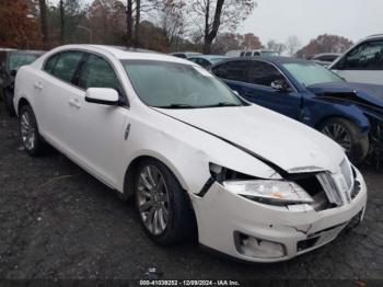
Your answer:
[[[214,183],[204,197],[192,195],[199,242],[245,261],[267,263],[292,259],[330,242],[352,218],[363,214],[367,187],[357,170],[356,180],[360,192],[350,203],[321,211],[306,205],[288,208],[258,204]],[[272,259],[244,255],[239,250],[237,234],[280,243],[283,255]]]

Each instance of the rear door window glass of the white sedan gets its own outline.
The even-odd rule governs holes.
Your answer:
[[[76,50],[60,53],[55,65],[49,67],[50,64],[47,62],[45,70],[48,68],[50,69],[50,73],[53,76],[61,79],[62,81],[71,82],[83,55],[84,54],[82,51]]]

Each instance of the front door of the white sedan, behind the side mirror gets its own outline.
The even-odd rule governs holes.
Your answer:
[[[126,167],[125,135],[128,128],[127,99],[111,62],[89,54],[77,74],[79,92],[71,94],[68,138],[71,156],[81,165],[112,187]],[[112,88],[120,95],[121,105],[109,106],[85,102],[89,88]]]

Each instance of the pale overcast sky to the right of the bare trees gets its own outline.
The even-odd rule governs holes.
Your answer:
[[[240,33],[254,33],[262,43],[285,43],[297,35],[302,45],[321,34],[352,42],[383,33],[383,0],[256,0]]]

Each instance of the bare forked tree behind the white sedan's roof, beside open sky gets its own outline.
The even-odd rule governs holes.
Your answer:
[[[235,30],[255,5],[254,0],[195,0],[189,3],[189,16],[194,18],[196,28],[204,35],[204,53],[211,53],[220,28]]]

